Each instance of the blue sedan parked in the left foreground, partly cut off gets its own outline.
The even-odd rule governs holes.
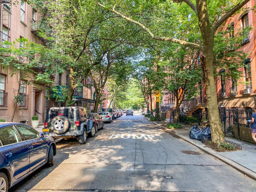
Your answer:
[[[39,167],[53,166],[53,138],[22,123],[0,123],[0,191],[7,192]]]

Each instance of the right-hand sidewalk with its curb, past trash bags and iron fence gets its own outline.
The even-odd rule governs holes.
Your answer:
[[[146,117],[144,117],[146,118]],[[148,118],[147,118],[148,119]],[[162,128],[167,129],[169,124],[169,119],[166,121],[153,122]],[[238,140],[232,137],[225,137],[226,140],[238,143],[242,146],[242,150],[239,151],[227,151],[227,152],[217,152],[209,147],[206,147],[201,141],[189,138],[189,131],[192,125],[182,125],[180,129],[167,129],[169,132],[177,135],[181,139],[199,147],[204,152],[213,155],[215,158],[233,166],[235,169],[250,176],[256,180],[256,145],[248,143],[242,140]],[[203,127],[203,126],[199,126]]]

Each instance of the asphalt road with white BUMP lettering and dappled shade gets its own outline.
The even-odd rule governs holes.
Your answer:
[[[105,124],[85,145],[62,140],[54,160],[10,192],[256,191],[255,180],[139,115]]]

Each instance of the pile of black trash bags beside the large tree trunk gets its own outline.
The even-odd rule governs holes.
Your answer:
[[[194,125],[190,129],[189,138],[202,141],[202,143],[203,143],[204,139],[211,139],[211,128],[210,127],[206,127],[206,128],[202,127],[201,129],[199,129],[197,125]]]

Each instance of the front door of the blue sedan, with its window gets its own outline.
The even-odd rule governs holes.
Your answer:
[[[16,125],[23,138],[29,146],[29,165],[30,171],[42,165],[47,160],[48,145],[45,138],[40,138],[35,129],[27,125]]]

